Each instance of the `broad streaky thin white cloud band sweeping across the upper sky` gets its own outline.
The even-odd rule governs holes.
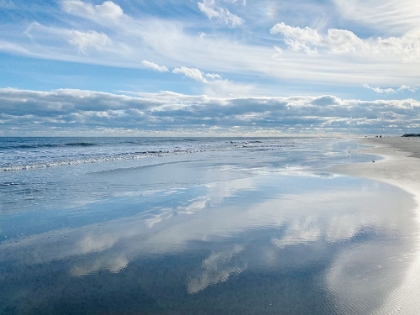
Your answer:
[[[101,20],[95,19],[94,22]],[[409,35],[381,39],[381,50],[375,48],[377,45],[364,50],[368,40],[362,40],[363,49],[358,51],[357,47],[361,44],[357,46],[347,40],[350,36],[353,41],[360,43],[350,32],[336,30],[338,35],[333,31],[328,35],[314,29],[293,29],[280,24],[281,31],[287,32],[290,38],[290,45],[301,50],[288,49],[291,46],[283,47],[276,43],[281,54],[280,50],[276,50],[273,58],[272,42],[270,45],[248,44],[223,34],[200,38],[198,32],[191,32],[181,22],[126,16],[118,23],[103,20],[102,24],[97,25],[86,21],[88,30],[105,34],[112,45],[104,46],[102,50],[92,50],[89,54],[74,54],[74,48],[63,45],[63,40],[71,38],[69,34],[74,31],[74,25],[79,25],[76,23],[80,24],[80,21],[72,21],[70,28],[37,24],[26,32],[30,35],[30,41],[18,28],[8,32],[0,30],[0,50],[34,58],[128,68],[144,68],[142,60],[158,58],[168,68],[186,64],[189,68],[211,69],[211,73],[223,72],[233,74],[232,77],[254,80],[265,91],[267,85],[260,83],[261,78],[272,80],[273,86],[276,84],[273,81],[279,79],[282,82],[299,80],[304,83],[300,86],[307,86],[311,82],[347,86],[360,85],[360,82],[375,86],[396,86],[400,82],[410,86],[418,84],[418,71],[411,64],[418,62],[419,57],[416,59],[416,56],[420,54],[414,34],[410,35],[413,37],[411,39]],[[86,32],[82,29],[77,31]],[[314,40],[313,36],[320,39]],[[303,49],[318,53],[307,56],[302,53]],[[352,54],[352,57],[348,58],[348,54]],[[211,80],[205,74],[202,76],[207,81]],[[288,91],[276,88],[270,95],[274,93],[286,95]]]

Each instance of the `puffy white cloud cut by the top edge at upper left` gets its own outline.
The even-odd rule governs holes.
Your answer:
[[[67,13],[82,16],[92,20],[117,20],[124,16],[121,7],[112,1],[92,5],[81,0],[64,0],[63,8]]]

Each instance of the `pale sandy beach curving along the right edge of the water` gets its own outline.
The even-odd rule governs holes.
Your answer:
[[[363,142],[374,145],[363,152],[380,155],[384,159],[364,164],[340,165],[333,167],[332,171],[385,182],[412,194],[418,205],[415,219],[420,231],[420,138],[368,138]],[[415,249],[415,258],[407,270],[406,278],[375,314],[419,314],[420,236],[417,237],[419,245]]]

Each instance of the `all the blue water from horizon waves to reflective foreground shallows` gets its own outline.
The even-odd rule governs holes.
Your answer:
[[[0,138],[0,314],[374,314],[406,192],[336,138]]]

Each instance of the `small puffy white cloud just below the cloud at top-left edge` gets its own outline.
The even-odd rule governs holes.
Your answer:
[[[104,47],[112,44],[111,39],[106,34],[95,31],[71,31],[70,37],[68,42],[76,46],[82,53],[86,53],[89,48],[103,50]]]

